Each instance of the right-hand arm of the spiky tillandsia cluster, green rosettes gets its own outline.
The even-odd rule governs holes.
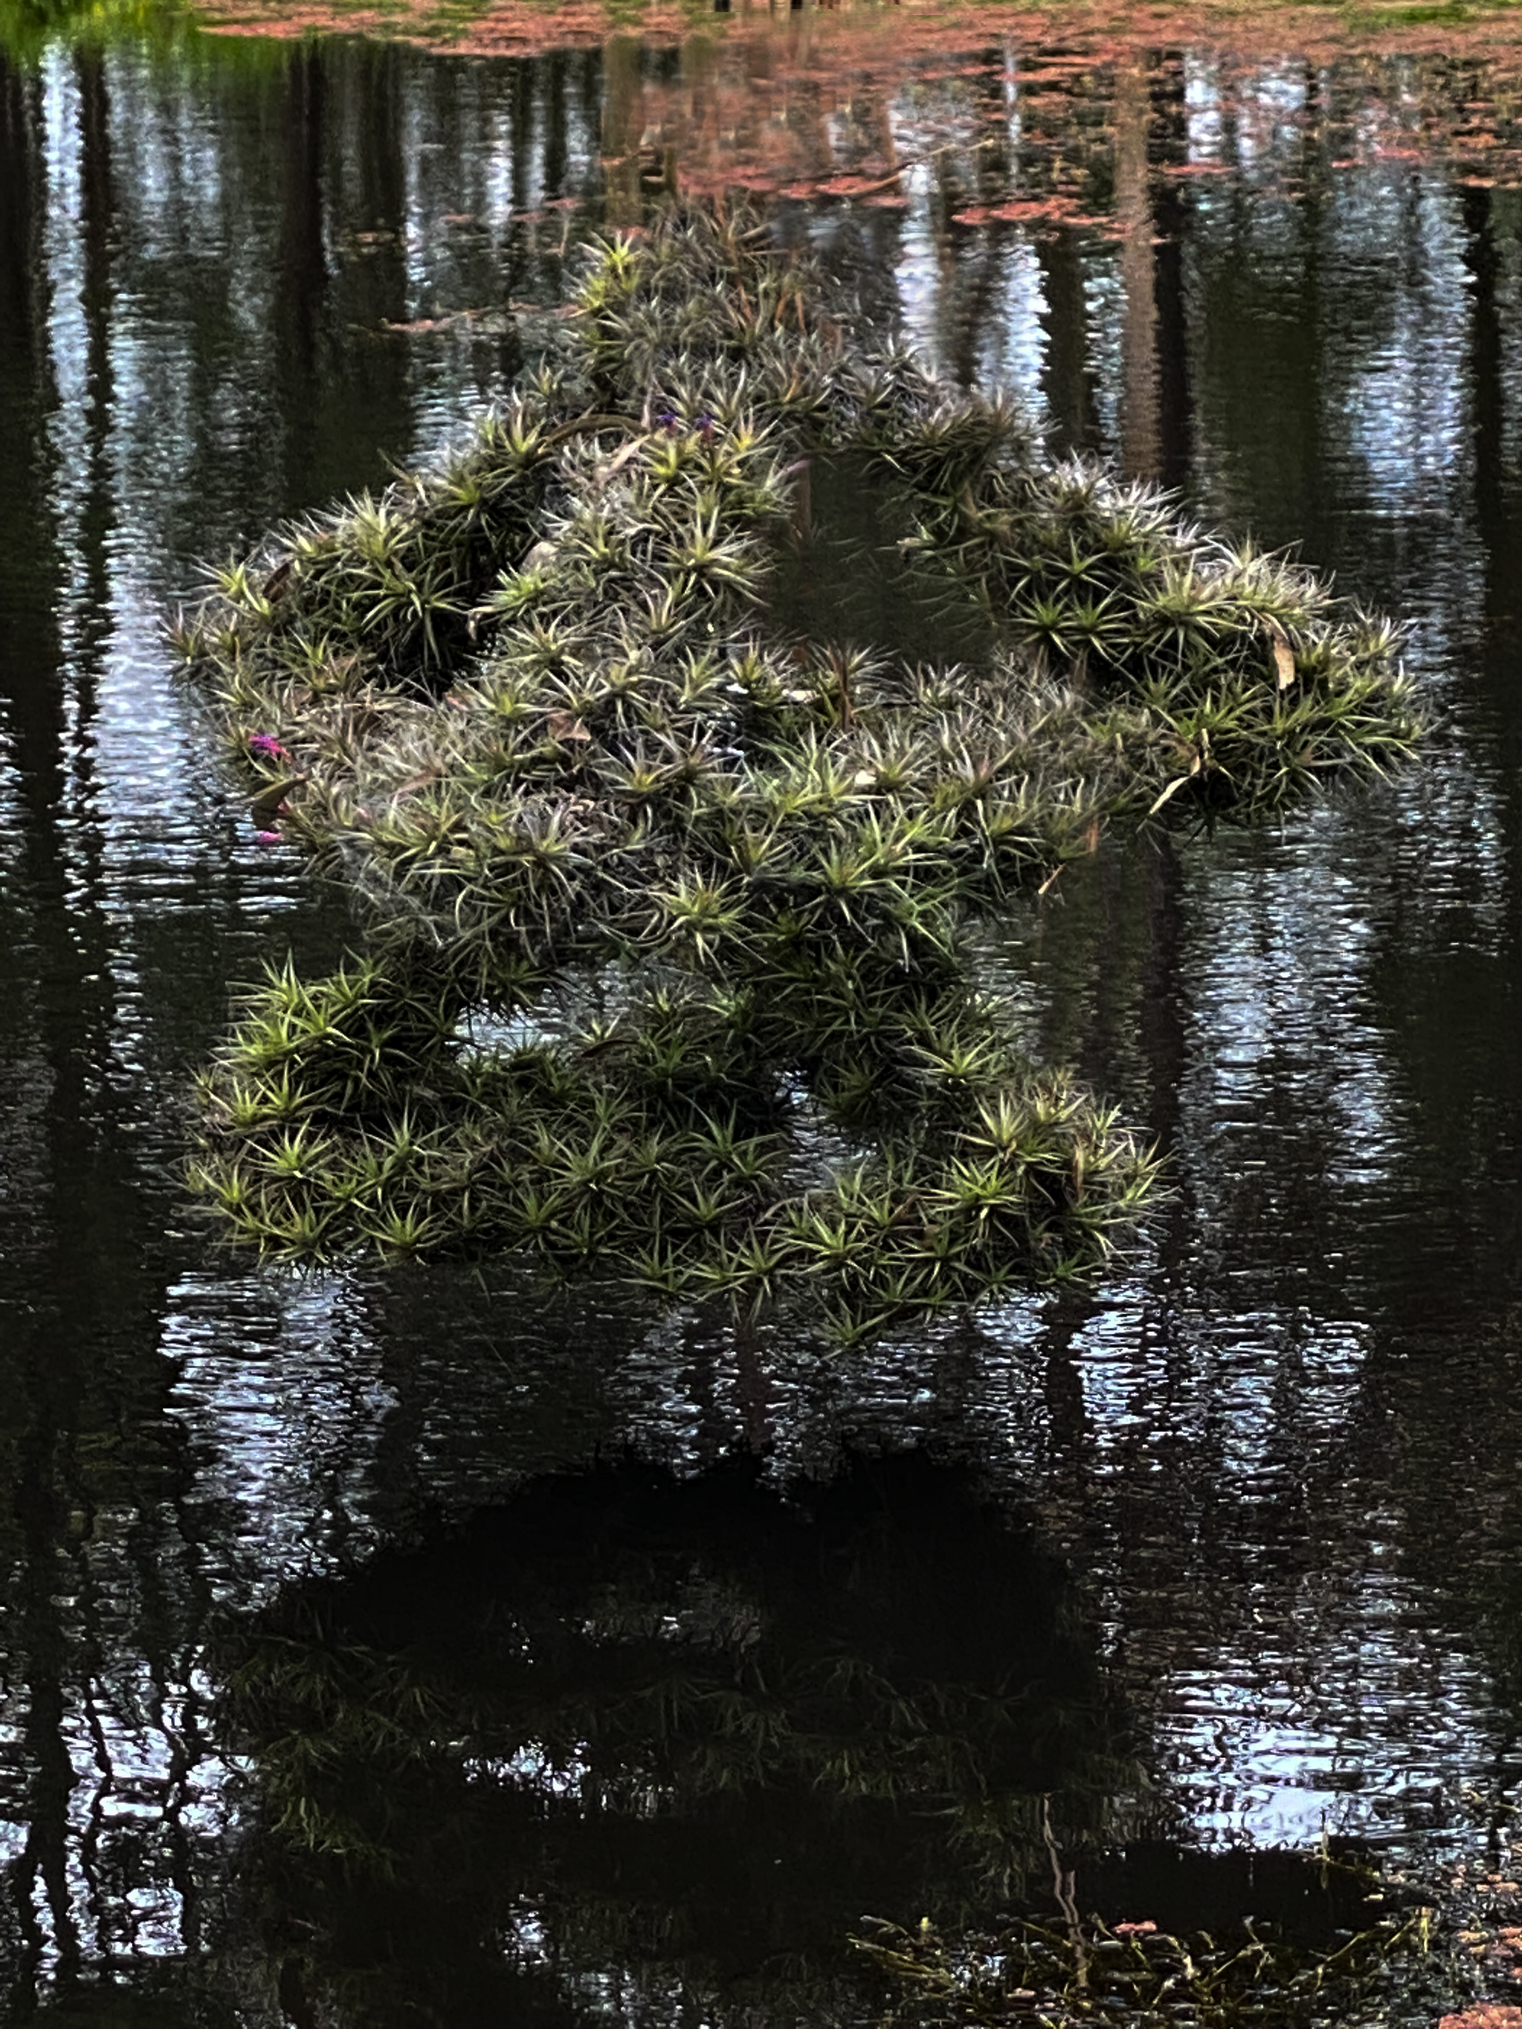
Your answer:
[[[1201,538],[1140,487],[990,467],[919,511],[919,542],[1102,700],[1088,730],[1134,775],[1116,820],[1256,824],[1416,747],[1398,629],[1283,558]]]

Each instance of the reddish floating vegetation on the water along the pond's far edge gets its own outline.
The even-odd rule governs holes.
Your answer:
[[[903,209],[919,191],[954,229],[1120,233],[1122,156],[1130,174],[1201,189],[1238,174],[1291,201],[1321,174],[1421,162],[1522,187],[1522,22],[1504,12],[1396,12],[1372,30],[1315,6],[781,0],[700,14],[653,0],[615,20],[593,0],[503,0],[471,18],[428,4],[219,0],[209,18],[223,32],[361,30],[473,57],[601,47],[619,223],[639,217],[643,185],[871,209]],[[1185,87],[1205,97],[1207,120],[1187,116]],[[1132,148],[1126,122],[1140,122]]]

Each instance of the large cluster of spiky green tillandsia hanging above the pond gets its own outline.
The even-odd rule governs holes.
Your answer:
[[[852,459],[974,666],[769,613]],[[591,252],[558,355],[436,469],[276,536],[177,631],[266,836],[367,950],[274,974],[193,1183],[268,1256],[528,1246],[844,1341],[1084,1272],[1155,1157],[980,994],[966,925],[1106,830],[1406,759],[1398,635],[1005,400],[850,337],[753,217]]]

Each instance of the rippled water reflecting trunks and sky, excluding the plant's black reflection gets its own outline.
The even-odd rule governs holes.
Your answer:
[[[1516,1783],[1512,73],[1086,57],[938,20],[895,49],[808,10],[777,37],[735,16],[517,55],[0,53],[0,1968],[22,2015],[215,1946],[246,2019],[278,2021],[292,1995],[229,1883],[258,1786],[213,1715],[209,1629],[625,1447],[678,1479],[735,1451],[828,1479],[844,1441],[972,1467],[1067,1558],[1155,1828],[1431,1846]],[[343,923],[254,844],[160,617],[197,558],[457,432],[544,343],[576,237],[672,179],[781,191],[781,231],[862,314],[1201,517],[1303,540],[1412,617],[1445,712],[1410,781],[1283,838],[1108,854],[988,933],[1033,1045],[1163,1138],[1177,1191],[1102,1290],[828,1366],[513,1268],[272,1282],[209,1250],[177,1181],[231,984],[292,943],[323,966]],[[972,1548],[936,1542],[966,1593]],[[513,1921],[522,1944],[544,1917]],[[546,2019],[678,2017],[617,1952],[597,1980],[576,1964],[546,1974]]]

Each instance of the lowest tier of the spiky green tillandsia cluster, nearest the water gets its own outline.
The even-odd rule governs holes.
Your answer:
[[[193,1187],[274,1260],[528,1248],[824,1315],[840,1343],[1078,1272],[1138,1209],[1155,1161],[1029,1073],[996,1010],[952,990],[895,1017],[862,968],[771,988],[637,992],[483,1051],[424,980],[272,974],[203,1079]],[[777,1077],[789,1057],[816,1102]],[[820,1102],[879,1155],[804,1181]]]

